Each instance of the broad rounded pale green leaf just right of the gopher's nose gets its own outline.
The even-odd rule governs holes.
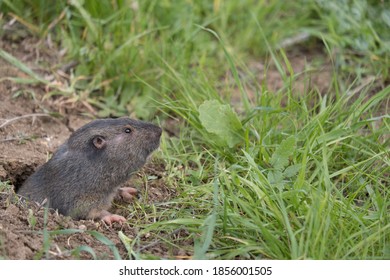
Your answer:
[[[242,124],[230,105],[208,100],[199,106],[199,118],[203,127],[230,148],[241,141]]]

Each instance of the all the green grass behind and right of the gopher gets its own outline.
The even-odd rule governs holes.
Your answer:
[[[101,116],[179,120],[159,155],[177,197],[136,206],[139,235],[121,235],[129,256],[156,257],[137,252],[148,234],[198,259],[390,258],[384,1],[92,3],[0,8],[78,62],[72,90],[51,94]],[[289,53],[302,45],[330,60],[326,92],[297,91],[324,66],[295,73]],[[280,88],[259,82],[259,60]]]

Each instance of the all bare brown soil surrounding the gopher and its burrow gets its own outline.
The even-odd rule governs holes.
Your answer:
[[[27,34],[16,37],[5,34],[0,38],[0,49],[52,83],[64,83],[55,68],[61,52],[48,42]],[[121,231],[130,239],[137,236],[131,217],[129,223],[112,227],[92,220],[75,221],[54,210],[26,205],[15,194],[74,130],[92,120],[93,109],[82,103],[47,98],[47,87],[17,83],[9,77],[29,78],[0,58],[0,259],[115,259],[118,255],[128,259],[129,253],[118,233]],[[168,201],[175,192],[165,184],[164,173],[164,164],[152,160],[128,185],[138,188],[141,197],[147,188],[144,203]],[[126,207],[132,207],[131,203],[123,205],[116,201],[111,211],[129,215]],[[153,236],[141,238],[143,244],[135,248],[138,252],[150,252],[161,258],[182,254],[168,255],[167,248]]]

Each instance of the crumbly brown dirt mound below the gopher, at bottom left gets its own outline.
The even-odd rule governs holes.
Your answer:
[[[146,168],[154,170],[154,165],[149,164]],[[151,176],[157,177],[158,174]],[[142,177],[138,175],[138,182]],[[159,180],[154,180],[148,188],[151,203],[153,199],[165,200],[170,195]],[[144,192],[140,190],[140,193]],[[130,213],[120,201],[115,201],[110,211],[125,217]],[[119,232],[130,240],[137,235],[137,229],[131,223],[109,227],[103,222],[75,221],[34,203],[27,205],[14,193],[11,185],[5,184],[0,189],[0,217],[0,258],[5,259],[128,259],[129,252]],[[145,241],[146,244],[154,243],[153,240]],[[166,250],[160,246],[156,243],[148,250],[160,252],[158,255],[164,257]]]

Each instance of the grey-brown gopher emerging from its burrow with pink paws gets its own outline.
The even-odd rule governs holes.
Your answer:
[[[126,219],[108,212],[116,193],[160,144],[161,128],[130,118],[98,119],[76,130],[20,187],[24,198],[44,203],[74,219]]]

